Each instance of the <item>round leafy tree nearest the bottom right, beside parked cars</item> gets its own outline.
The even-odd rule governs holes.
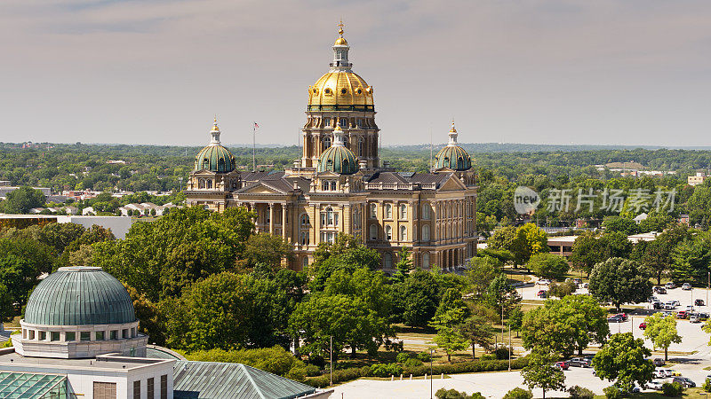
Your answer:
[[[649,356],[650,349],[631,332],[613,334],[593,357],[593,367],[599,379],[616,381],[623,392],[629,392],[635,382],[643,387],[651,381],[654,364]]]

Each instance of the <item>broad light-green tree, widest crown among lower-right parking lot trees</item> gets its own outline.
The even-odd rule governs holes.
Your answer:
[[[576,349],[582,354],[591,342],[603,343],[609,332],[605,309],[589,296],[548,300],[523,316],[523,347],[548,348],[563,356]]]

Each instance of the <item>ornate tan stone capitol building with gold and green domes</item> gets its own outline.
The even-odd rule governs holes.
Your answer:
[[[210,144],[196,155],[187,204],[248,208],[258,232],[292,244],[293,270],[307,267],[319,243],[339,233],[377,250],[385,271],[394,269],[403,246],[420,269],[463,266],[475,253],[476,185],[454,122],[429,173],[389,168],[379,158],[373,87],[353,71],[349,50],[341,24],[328,72],[308,87],[303,154],[293,168],[236,170],[215,120]]]

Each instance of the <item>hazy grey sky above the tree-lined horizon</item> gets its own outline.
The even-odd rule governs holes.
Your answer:
[[[3,0],[0,141],[295,145],[342,18],[383,145],[710,145],[707,0]]]

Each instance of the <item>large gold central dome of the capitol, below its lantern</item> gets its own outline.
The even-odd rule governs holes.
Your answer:
[[[308,110],[373,111],[372,91],[354,72],[328,72],[308,88]]]

